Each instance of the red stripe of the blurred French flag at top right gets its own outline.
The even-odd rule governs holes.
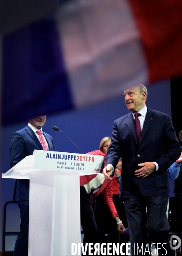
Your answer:
[[[182,75],[182,1],[129,2],[141,34],[149,81]]]

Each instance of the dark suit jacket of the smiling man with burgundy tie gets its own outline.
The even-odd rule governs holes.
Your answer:
[[[115,169],[122,156],[120,196],[123,198],[136,195],[137,186],[145,196],[168,196],[170,184],[167,169],[180,154],[179,141],[170,117],[148,109],[139,142],[132,113],[114,121],[106,164],[111,163]],[[159,170],[146,178],[137,178],[134,171],[141,168],[137,164],[145,162],[158,163]]]

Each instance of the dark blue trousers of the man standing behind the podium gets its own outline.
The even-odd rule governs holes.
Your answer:
[[[21,224],[13,256],[28,256],[29,201],[18,201],[18,206]]]

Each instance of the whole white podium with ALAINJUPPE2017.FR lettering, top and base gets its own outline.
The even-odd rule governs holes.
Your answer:
[[[96,155],[35,150],[2,174],[30,179],[28,256],[71,256],[71,243],[81,241],[80,175],[100,172],[103,161]]]

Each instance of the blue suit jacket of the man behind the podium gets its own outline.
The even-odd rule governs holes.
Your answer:
[[[43,133],[48,143],[49,151],[56,151],[53,138]],[[34,131],[27,125],[20,131],[16,131],[11,138],[10,145],[10,165],[11,168],[19,163],[24,157],[33,154],[34,150],[43,150]],[[29,180],[17,179],[14,187],[15,201],[29,200]]]

